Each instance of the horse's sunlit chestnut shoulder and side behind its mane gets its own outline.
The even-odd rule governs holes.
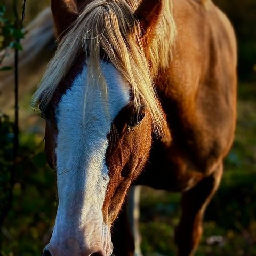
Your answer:
[[[191,142],[190,153],[201,154],[198,159],[207,165],[212,155],[218,160],[226,154],[233,139],[235,40],[230,22],[211,1],[207,8],[199,0],[179,1],[174,0],[173,58],[162,76],[168,81],[162,85],[164,108],[175,134]]]

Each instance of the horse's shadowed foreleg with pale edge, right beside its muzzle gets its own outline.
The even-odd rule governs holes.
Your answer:
[[[111,235],[115,256],[142,256],[140,251],[140,186],[131,187]]]

